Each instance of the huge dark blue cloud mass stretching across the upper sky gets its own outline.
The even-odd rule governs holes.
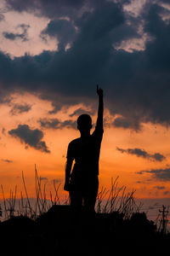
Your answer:
[[[53,102],[57,111],[63,105],[94,102],[99,83],[105,90],[106,107],[112,115],[122,116],[115,119],[116,127],[139,131],[144,122],[170,124],[170,25],[161,20],[164,9],[160,5],[144,6],[137,23],[144,24],[144,33],[152,39],[143,51],[130,53],[114,47],[123,40],[140,38],[135,20],[127,22],[122,1],[7,3],[17,11],[49,17],[43,33],[58,37],[63,45],[73,40],[71,49],[61,47],[14,60],[0,53],[0,83],[4,90],[8,86],[7,93],[16,89],[37,92]],[[64,16],[69,19],[58,20]],[[65,25],[59,29],[62,22]],[[73,27],[77,27],[76,37]],[[67,30],[72,30],[69,37],[65,37]]]

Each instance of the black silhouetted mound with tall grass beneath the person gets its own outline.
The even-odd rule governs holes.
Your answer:
[[[96,213],[83,210],[75,212],[66,199],[59,201],[59,184],[54,183],[55,194],[49,192],[47,199],[45,186],[35,168],[36,195],[32,204],[26,190],[26,198],[21,193],[20,203],[16,201],[17,188],[4,198],[4,218],[0,223],[0,241],[3,255],[63,255],[79,253],[105,255],[114,253],[152,253],[166,251],[169,234],[161,234],[156,224],[150,221],[141,205],[134,199],[134,193],[126,187],[118,186],[118,177],[111,189],[101,189],[96,201]],[[3,186],[2,186],[3,191]],[[18,203],[18,209],[17,209]]]

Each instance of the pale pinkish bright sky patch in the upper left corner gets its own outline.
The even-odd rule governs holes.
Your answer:
[[[40,33],[48,25],[49,20],[43,17],[10,11],[3,13],[4,19],[0,22],[0,50],[11,56],[21,56],[29,53],[38,55],[43,50],[56,50],[56,38],[47,38],[46,42],[40,38]],[[14,40],[4,37],[4,33],[20,34],[20,25],[25,24],[27,28],[27,40],[18,37]]]

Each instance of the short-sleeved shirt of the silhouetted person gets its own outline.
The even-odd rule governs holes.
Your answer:
[[[103,128],[95,127],[89,137],[79,137],[69,143],[67,159],[75,160],[72,174],[79,177],[99,175],[99,153]]]

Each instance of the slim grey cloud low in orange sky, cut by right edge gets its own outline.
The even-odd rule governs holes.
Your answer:
[[[152,177],[156,178],[157,180],[167,182],[170,180],[170,169],[152,169],[150,171],[140,171],[137,172],[138,174],[150,173]]]

